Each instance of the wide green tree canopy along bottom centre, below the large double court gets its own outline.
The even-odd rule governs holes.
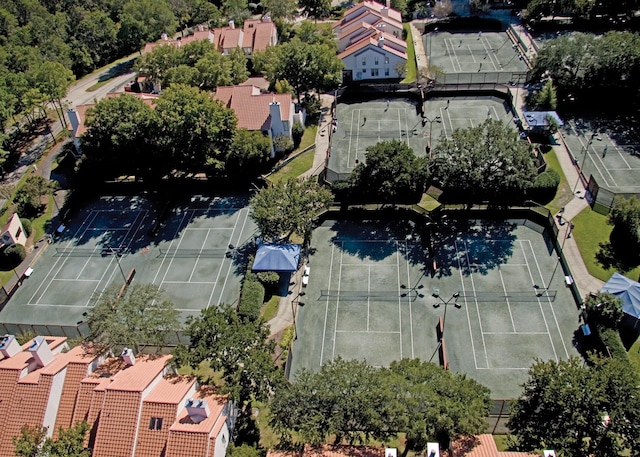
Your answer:
[[[272,403],[272,426],[283,440],[305,443],[386,440],[407,433],[409,449],[430,440],[480,433],[491,401],[489,390],[435,364],[403,359],[389,368],[336,359],[317,373],[301,370]]]

